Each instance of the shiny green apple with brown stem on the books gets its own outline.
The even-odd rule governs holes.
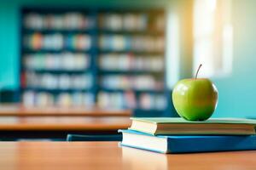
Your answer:
[[[198,69],[200,70],[201,65]],[[207,120],[218,103],[218,90],[207,78],[183,79],[172,91],[173,105],[179,116],[189,121]]]

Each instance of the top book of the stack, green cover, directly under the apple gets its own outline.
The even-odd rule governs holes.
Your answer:
[[[201,122],[175,117],[132,117],[131,120],[129,129],[154,135],[251,135],[256,127],[256,120],[241,118],[210,118]]]

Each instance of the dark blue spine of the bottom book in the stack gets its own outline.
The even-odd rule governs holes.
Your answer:
[[[202,136],[168,139],[167,153],[256,150],[256,136]]]

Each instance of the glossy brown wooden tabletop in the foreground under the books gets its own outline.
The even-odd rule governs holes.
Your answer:
[[[256,169],[256,151],[164,155],[117,142],[2,142],[3,169]]]

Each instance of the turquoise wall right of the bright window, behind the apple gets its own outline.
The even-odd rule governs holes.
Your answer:
[[[256,117],[256,1],[233,0],[234,58],[229,77],[216,78],[215,116]]]

